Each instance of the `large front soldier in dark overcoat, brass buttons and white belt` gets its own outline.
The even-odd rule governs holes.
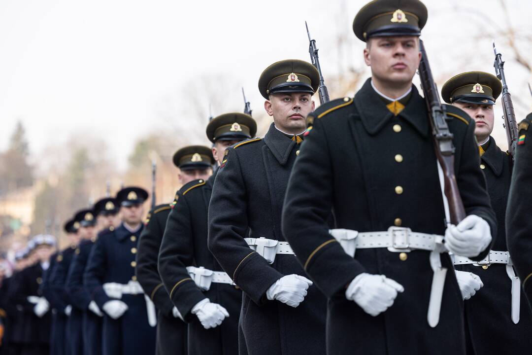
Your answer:
[[[462,295],[447,250],[484,258],[496,222],[475,125],[447,106],[467,214],[447,228],[427,105],[412,85],[426,20],[418,0],[362,7],[353,30],[367,42],[372,77],[354,98],[331,101],[307,117],[282,225],[329,298],[331,355],[465,353]],[[333,230],[326,224],[331,209]]]

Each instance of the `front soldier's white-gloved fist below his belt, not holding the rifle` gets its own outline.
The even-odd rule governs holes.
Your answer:
[[[384,275],[362,273],[356,276],[345,291],[345,298],[356,304],[369,315],[376,317],[392,307],[397,292],[404,287]]]

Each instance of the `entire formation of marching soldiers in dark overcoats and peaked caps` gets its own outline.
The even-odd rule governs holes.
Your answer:
[[[2,285],[12,312],[51,315],[52,354],[528,353],[532,115],[512,116],[500,54],[497,76],[438,92],[427,18],[419,0],[363,6],[371,78],[317,109],[314,59],[269,65],[263,138],[247,104],[221,114],[211,147],[174,154],[182,186],[144,224],[148,193],[126,187],[66,222],[72,246],[49,264],[55,241],[36,237]],[[47,353],[15,338],[13,354]]]

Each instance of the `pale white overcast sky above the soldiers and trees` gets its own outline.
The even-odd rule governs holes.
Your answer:
[[[305,20],[320,48],[326,82],[327,75],[343,69],[338,65],[338,34],[346,34],[348,60],[367,71],[364,44],[351,30],[364,3],[2,0],[0,151],[21,120],[36,162],[47,147],[90,133],[109,146],[111,160],[126,167],[135,141],[147,132],[175,129],[176,122],[179,127],[203,127],[205,117],[189,106],[204,102],[208,110],[209,102],[197,88],[211,77],[219,84],[214,87],[218,102],[223,102],[212,107],[214,115],[243,109],[239,86],[246,89],[252,108],[262,110],[257,89],[262,70],[281,59],[309,60]],[[493,31],[504,27],[498,1],[425,3],[429,21],[423,39],[435,77],[493,72]],[[505,3],[514,26],[530,35],[532,4]],[[530,42],[523,54],[532,62]],[[526,87],[530,73],[510,61],[509,48],[500,43],[509,59],[511,93],[519,96],[518,112],[524,114],[532,103]],[[177,107],[170,112],[174,117],[161,115],[169,101]],[[497,107],[496,121],[501,114]],[[498,136],[504,137],[497,125]]]

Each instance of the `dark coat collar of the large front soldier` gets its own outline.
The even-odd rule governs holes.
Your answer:
[[[356,108],[359,111],[364,128],[369,134],[374,135],[381,130],[393,117],[379,94],[371,87],[371,78],[366,80],[362,88],[355,95]],[[398,116],[408,121],[423,137],[429,134],[427,108],[418,89],[412,86],[410,101]],[[422,114],[421,114],[422,113]]]

